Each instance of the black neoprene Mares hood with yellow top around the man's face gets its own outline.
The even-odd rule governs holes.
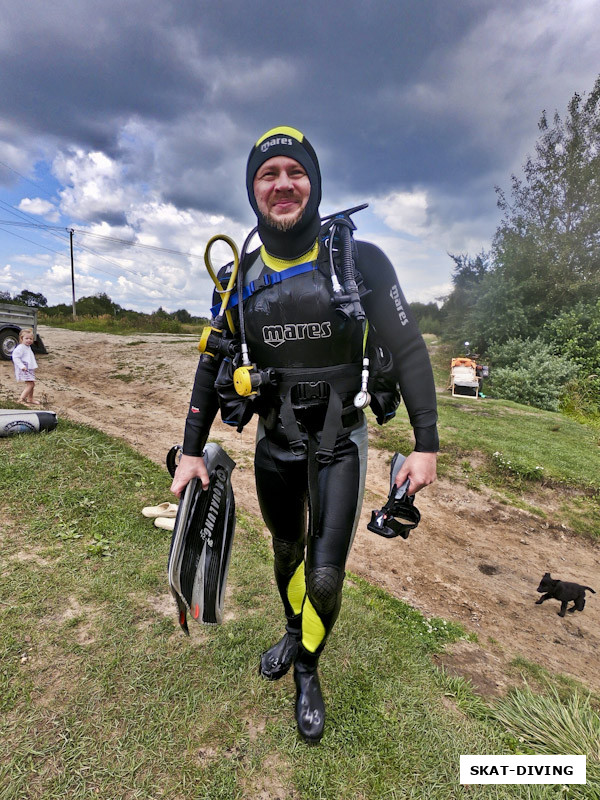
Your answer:
[[[258,210],[254,197],[254,176],[265,161],[275,156],[293,158],[306,170],[310,180],[310,196],[302,218],[289,231],[279,231],[270,225]],[[258,219],[258,234],[267,252],[277,258],[294,259],[314,245],[321,227],[321,170],[311,143],[296,128],[279,126],[263,134],[252,148],[246,166],[248,199]]]

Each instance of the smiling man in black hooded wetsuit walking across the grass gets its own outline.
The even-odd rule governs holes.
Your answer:
[[[364,493],[367,424],[353,404],[364,327],[332,303],[319,241],[321,174],[306,137],[293,128],[268,131],[252,148],[246,182],[262,241],[241,265],[244,286],[252,288],[244,300],[246,338],[252,362],[277,376],[257,407],[255,478],[286,617],[285,633],[262,654],[259,671],[277,680],[293,665],[298,730],[318,742],[325,707],[317,666],[340,611]],[[390,261],[372,244],[355,244],[362,305],[391,351],[393,378],[415,435],[396,484],[408,478],[408,493],[415,494],[436,475],[431,365]],[[192,477],[208,486],[202,452],[219,405],[218,362],[201,359],[198,365],[171,487],[177,496]]]

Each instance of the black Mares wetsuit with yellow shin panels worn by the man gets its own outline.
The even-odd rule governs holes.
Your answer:
[[[372,244],[356,245],[356,267],[368,290],[362,297],[363,307],[393,355],[395,377],[415,433],[415,449],[435,452],[436,397],[425,343],[390,261]],[[280,264],[285,267],[284,262]],[[264,284],[263,276],[277,271],[265,266],[257,251],[248,256],[244,274],[246,284],[251,280]],[[360,389],[363,329],[335,311],[331,294],[327,270],[315,263],[308,272],[263,286],[244,302],[250,355],[259,368],[281,369],[288,377],[290,370],[297,370],[299,382],[318,378],[322,368],[339,368],[344,376],[339,384],[344,414],[329,463],[317,465],[315,461],[326,399],[313,398],[304,403],[307,407],[298,408],[303,403],[292,391],[294,416],[301,439],[308,445],[305,452],[299,452],[290,446],[289,431],[282,423],[282,392],[274,391],[270,406],[275,412],[266,415],[263,406],[263,414],[269,418],[265,424],[261,417],[256,444],[258,499],[273,536],[275,576],[288,630],[299,629],[301,623],[302,645],[315,663],[339,613],[367,462],[366,420],[363,412],[353,407],[353,397]],[[217,369],[215,361],[201,360],[198,365],[186,422],[186,455],[202,454],[217,413]],[[308,506],[312,521],[307,537]]]

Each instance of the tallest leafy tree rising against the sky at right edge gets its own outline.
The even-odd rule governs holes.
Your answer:
[[[573,95],[564,121],[544,112],[538,127],[511,200],[496,189],[504,217],[493,248],[535,328],[600,290],[600,76],[587,98]]]

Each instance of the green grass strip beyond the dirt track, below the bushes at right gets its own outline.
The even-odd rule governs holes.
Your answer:
[[[487,487],[511,505],[545,515],[544,490],[560,498],[555,522],[600,536],[600,439],[593,425],[508,400],[438,394],[440,475],[473,489]],[[379,427],[373,444],[410,452],[406,409]]]

